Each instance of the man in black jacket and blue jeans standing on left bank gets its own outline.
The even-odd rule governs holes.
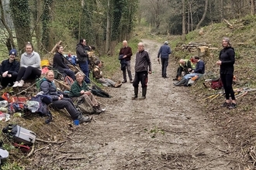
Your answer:
[[[91,83],[90,82],[90,71],[89,71],[89,66],[88,66],[88,53],[87,51],[92,50],[91,46],[86,46],[86,40],[85,39],[80,39],[77,47],[76,47],[76,53],[78,57],[78,64],[81,70],[85,73],[85,82],[86,83]]]

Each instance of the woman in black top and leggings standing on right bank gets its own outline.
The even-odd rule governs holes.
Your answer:
[[[235,63],[235,52],[234,48],[231,47],[230,39],[224,37],[222,40],[223,49],[220,51],[220,56],[216,64],[220,66],[220,79],[223,82],[225,90],[226,102],[223,107],[234,109],[237,105],[234,97],[234,90],[232,87],[234,77],[234,63]],[[230,97],[232,101],[230,102]]]

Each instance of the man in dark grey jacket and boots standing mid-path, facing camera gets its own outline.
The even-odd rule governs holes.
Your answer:
[[[135,100],[138,97],[139,83],[141,83],[142,87],[142,97],[139,99],[146,99],[148,73],[152,73],[150,56],[147,51],[144,50],[144,42],[139,42],[138,52],[135,59],[135,76],[133,80],[134,96],[132,97],[132,100]]]

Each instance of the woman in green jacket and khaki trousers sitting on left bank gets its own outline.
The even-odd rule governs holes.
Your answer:
[[[85,102],[95,110],[95,114],[102,113],[102,108],[100,107],[98,101],[95,99],[93,94],[88,91],[87,83],[85,83],[85,74],[78,72],[75,74],[74,83],[71,85],[71,91],[69,97],[72,100],[76,100],[78,97],[84,97]]]

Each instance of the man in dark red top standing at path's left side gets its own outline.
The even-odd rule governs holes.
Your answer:
[[[127,41],[124,40],[123,41],[123,47],[120,49],[119,52],[119,56],[122,56],[122,59],[126,60],[126,66],[123,68],[123,82],[122,83],[126,83],[127,79],[126,79],[126,69],[127,69],[127,73],[130,79],[130,83],[133,83],[133,77],[132,77],[132,73],[130,72],[130,58],[131,56],[133,56],[132,53],[132,49],[130,48],[130,46],[128,46]]]

